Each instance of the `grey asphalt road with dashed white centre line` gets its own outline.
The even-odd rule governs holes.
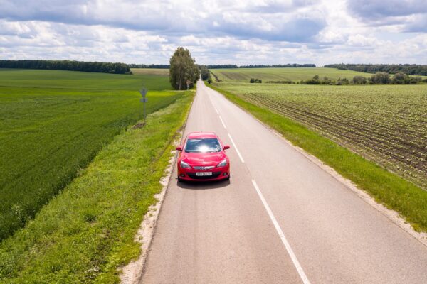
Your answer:
[[[427,283],[427,248],[198,82],[186,133],[231,146],[231,181],[176,169],[142,283]]]

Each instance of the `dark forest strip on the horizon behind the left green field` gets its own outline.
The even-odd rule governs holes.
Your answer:
[[[70,60],[0,60],[0,68],[70,70],[112,74],[132,74],[125,63],[83,62]]]

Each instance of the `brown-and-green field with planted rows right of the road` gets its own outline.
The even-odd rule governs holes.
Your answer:
[[[427,190],[427,85],[216,83]]]

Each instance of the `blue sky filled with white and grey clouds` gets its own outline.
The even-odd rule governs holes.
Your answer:
[[[0,0],[0,59],[427,65],[426,0]]]

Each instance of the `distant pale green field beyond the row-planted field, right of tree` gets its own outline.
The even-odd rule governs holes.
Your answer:
[[[238,69],[211,69],[211,72],[224,82],[249,82],[251,78],[267,81],[292,80],[300,81],[311,79],[315,75],[328,77],[333,80],[347,78],[351,80],[354,76],[371,77],[369,73],[350,70],[338,70],[335,68],[238,68]],[[212,78],[214,79],[214,77]]]

